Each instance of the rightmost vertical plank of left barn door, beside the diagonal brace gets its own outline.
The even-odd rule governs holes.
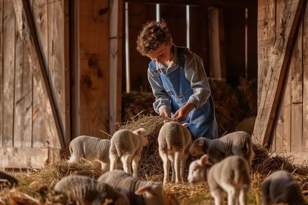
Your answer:
[[[65,133],[65,76],[64,69],[64,5],[63,0],[48,0],[48,75],[57,109],[62,133]],[[54,136],[55,137],[55,136]],[[63,136],[64,137],[64,136]],[[56,139],[53,140],[56,142]],[[66,145],[69,142],[65,142]],[[55,147],[51,146],[51,147]]]

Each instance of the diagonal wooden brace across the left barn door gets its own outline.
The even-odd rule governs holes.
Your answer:
[[[12,0],[16,15],[16,22],[19,28],[20,36],[23,39],[30,53],[30,60],[32,63],[37,62],[39,69],[35,66],[31,71],[37,85],[41,85],[43,91],[47,93],[51,112],[54,117],[54,122],[59,137],[59,142],[62,148],[64,148],[63,141],[63,128],[60,122],[60,113],[57,110],[55,97],[53,96],[49,78],[46,72],[46,65],[42,56],[42,52],[39,47],[39,41],[34,27],[34,22],[31,15],[31,8],[28,0]]]

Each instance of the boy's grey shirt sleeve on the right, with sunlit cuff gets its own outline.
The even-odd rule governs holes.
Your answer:
[[[210,97],[211,88],[202,59],[190,51],[185,52],[185,77],[193,90],[188,102],[195,104],[196,107],[201,106]]]

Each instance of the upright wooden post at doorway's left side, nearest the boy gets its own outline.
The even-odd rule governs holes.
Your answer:
[[[110,97],[109,97],[109,133],[113,134],[118,130],[117,122],[121,122],[121,96],[122,96],[122,61],[118,66],[119,59],[122,59],[122,39],[123,32],[123,2],[120,0],[110,1],[110,18],[109,18],[109,73],[110,73]],[[121,46],[119,46],[119,43]],[[121,51],[121,55],[119,52]],[[116,69],[115,69],[116,68]],[[120,111],[120,112],[119,112]],[[107,136],[106,136],[107,138]]]

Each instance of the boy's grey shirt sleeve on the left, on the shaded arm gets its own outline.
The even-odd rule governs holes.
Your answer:
[[[165,89],[162,87],[160,80],[154,74],[154,71],[148,68],[148,80],[155,96],[155,102],[153,103],[154,111],[160,114],[160,111],[164,108],[171,110],[170,97]]]

